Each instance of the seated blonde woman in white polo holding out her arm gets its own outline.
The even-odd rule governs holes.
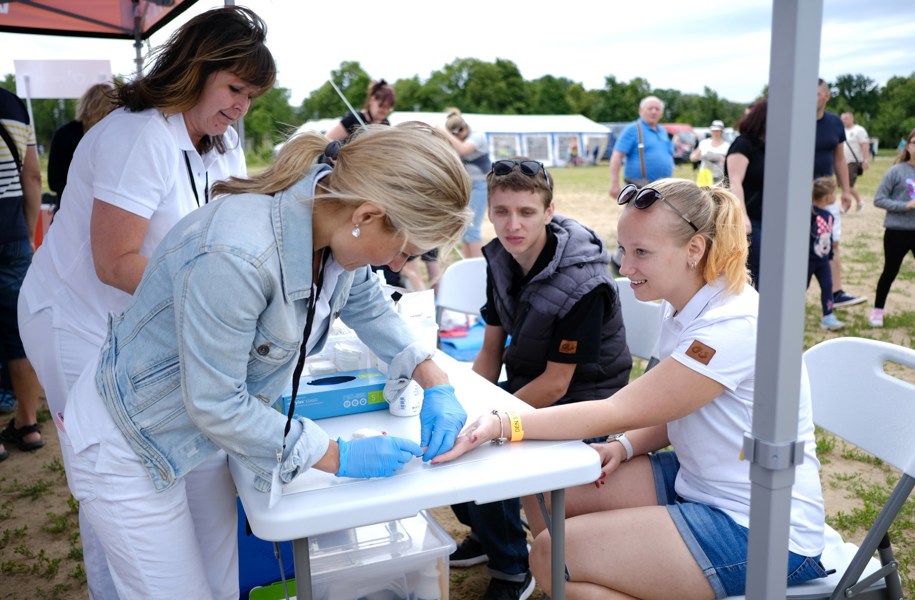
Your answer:
[[[625,187],[618,225],[620,273],[639,300],[663,300],[661,362],[604,401],[488,414],[459,438],[451,460],[502,438],[580,439],[603,465],[595,484],[566,504],[569,598],[710,600],[743,595],[759,295],[749,284],[743,209],[730,192],[663,179]],[[825,513],[802,372],[798,438],[804,460],[791,497],[789,585],[825,577]],[[668,445],[672,451],[662,451]],[[531,570],[551,593],[550,539],[536,503],[525,512],[536,538]]]

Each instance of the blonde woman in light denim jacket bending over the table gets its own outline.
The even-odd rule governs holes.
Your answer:
[[[470,184],[440,134],[369,127],[342,147],[304,134],[213,191],[150,258],[64,415],[70,488],[125,598],[238,597],[225,453],[263,491],[309,468],[386,477],[450,449],[466,419],[367,266],[460,239]],[[284,434],[271,405],[337,316],[390,365],[387,399],[411,378],[425,389],[419,444],[334,441],[301,417]]]

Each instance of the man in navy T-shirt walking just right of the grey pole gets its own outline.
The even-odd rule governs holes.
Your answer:
[[[848,183],[848,163],[845,162],[845,125],[842,119],[831,112],[826,112],[831,92],[829,84],[819,80],[817,86],[817,128],[816,145],[813,153],[813,178],[835,175],[839,189],[842,190],[841,208],[834,202],[827,209],[833,216],[832,250],[833,257],[829,264],[832,270],[832,305],[836,308],[851,306],[864,302],[863,296],[851,296],[842,289],[842,260],[839,257],[839,238],[842,235],[841,213],[851,208],[851,186]]]

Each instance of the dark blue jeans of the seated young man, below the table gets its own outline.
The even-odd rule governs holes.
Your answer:
[[[521,581],[528,572],[527,534],[521,526],[521,500],[511,498],[488,504],[463,502],[451,510],[470,527],[489,556],[489,574],[496,579]]]

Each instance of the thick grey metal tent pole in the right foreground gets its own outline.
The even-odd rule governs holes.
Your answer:
[[[747,598],[785,598],[822,0],[773,0]],[[780,152],[778,150],[786,150]],[[745,454],[747,444],[744,445]]]

